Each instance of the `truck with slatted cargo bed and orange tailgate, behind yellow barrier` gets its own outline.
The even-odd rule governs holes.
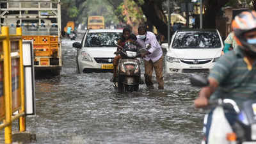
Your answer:
[[[1,26],[9,26],[11,34],[20,26],[23,40],[33,40],[36,71],[51,70],[54,74],[60,74],[60,0],[0,0]]]

